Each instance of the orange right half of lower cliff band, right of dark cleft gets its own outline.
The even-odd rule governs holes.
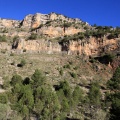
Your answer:
[[[120,49],[119,39],[95,38],[88,40],[70,41],[69,53],[87,56],[99,56],[102,53],[112,52]]]

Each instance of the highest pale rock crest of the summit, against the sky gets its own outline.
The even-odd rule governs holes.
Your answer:
[[[22,28],[37,28],[41,24],[45,24],[48,21],[53,21],[53,20],[62,20],[62,21],[67,21],[67,22],[82,22],[79,19],[72,19],[65,17],[64,15],[56,14],[56,13],[50,13],[50,14],[41,14],[41,13],[36,13],[35,15],[27,15],[23,21],[21,22],[21,27]]]

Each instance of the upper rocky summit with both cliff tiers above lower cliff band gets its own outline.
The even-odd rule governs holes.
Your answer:
[[[71,25],[64,27],[65,23]],[[76,28],[75,23],[78,23],[79,28]],[[26,33],[30,32],[30,30],[34,30],[37,32],[37,34],[43,34],[47,35],[48,37],[55,38],[64,35],[76,34],[78,32],[84,32],[84,28],[81,27],[82,23],[84,22],[82,22],[80,19],[72,19],[61,14],[36,13],[35,15],[27,15],[22,21],[0,19],[0,28],[19,28],[19,32],[16,31],[16,29],[14,30],[14,33],[10,30],[7,36],[10,34],[10,36],[18,35],[24,37],[24,35],[28,35]],[[20,31],[20,28],[25,32]]]

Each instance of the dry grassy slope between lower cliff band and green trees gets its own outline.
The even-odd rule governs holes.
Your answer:
[[[23,67],[17,67],[21,59],[26,60]],[[11,65],[14,63],[14,65]],[[64,65],[69,64],[70,68],[64,68]],[[98,63],[97,63],[98,64]],[[99,63],[99,66],[105,67],[105,70],[96,72],[92,64],[84,61],[76,56],[61,55],[61,54],[0,54],[0,76],[9,79],[14,74],[20,74],[23,78],[31,76],[35,69],[40,69],[46,74],[48,83],[57,84],[58,81],[68,80],[71,85],[89,84],[92,80],[106,81],[110,78],[111,73],[108,72],[108,67]],[[59,69],[63,69],[63,75],[60,75]],[[70,73],[74,72],[77,77],[71,77]]]

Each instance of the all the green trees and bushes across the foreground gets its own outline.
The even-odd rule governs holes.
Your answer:
[[[110,120],[118,120],[120,118],[119,78],[120,67],[108,81],[110,92],[106,93],[103,99],[98,82],[91,83],[90,90],[85,95],[80,86],[76,85],[72,88],[67,80],[55,86],[49,85],[45,75],[38,69],[31,77],[25,79],[15,74],[9,83],[4,83],[4,88],[11,90],[0,94],[0,111],[3,112],[1,118],[6,119],[6,109],[12,109],[17,117],[11,113],[8,115],[11,120],[16,118],[29,120],[30,117],[40,120],[66,120],[70,114],[75,117],[74,111],[86,114],[84,113],[86,109],[92,106],[94,110],[106,111],[108,114],[106,117],[109,116]],[[88,116],[96,119],[94,113],[87,113],[86,119]]]

